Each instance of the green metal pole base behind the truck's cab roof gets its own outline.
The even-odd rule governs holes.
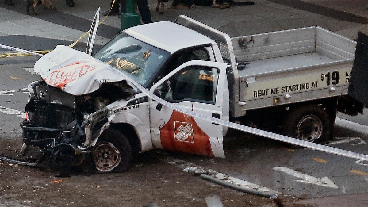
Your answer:
[[[125,7],[125,13],[121,14],[120,31],[141,24],[141,17],[135,13],[134,0],[126,0]]]

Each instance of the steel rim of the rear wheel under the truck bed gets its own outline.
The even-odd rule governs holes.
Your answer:
[[[318,116],[304,116],[297,126],[297,137],[304,141],[313,142],[322,136],[323,123]]]

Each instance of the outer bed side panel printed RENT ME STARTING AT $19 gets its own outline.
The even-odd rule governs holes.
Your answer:
[[[290,73],[270,73],[241,80],[240,110],[302,102],[347,93],[353,60],[305,67]],[[338,90],[337,90],[338,89]],[[267,101],[265,101],[265,99]]]

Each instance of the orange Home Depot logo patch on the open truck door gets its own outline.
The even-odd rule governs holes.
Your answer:
[[[214,156],[209,136],[193,117],[176,110],[169,121],[160,127],[160,140],[165,150]]]

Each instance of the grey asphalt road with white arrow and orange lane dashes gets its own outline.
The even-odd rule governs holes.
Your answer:
[[[0,137],[20,138],[19,123],[27,101],[26,87],[37,74],[31,68],[35,56],[0,59]],[[346,117],[344,117],[346,118]],[[367,125],[367,116],[356,119]],[[368,154],[368,134],[335,127],[329,145]],[[227,159],[170,153],[170,157],[225,173],[299,198],[364,193],[368,185],[367,162],[311,149],[290,149],[279,141],[234,131],[224,141]],[[164,161],[162,161],[164,162]]]

